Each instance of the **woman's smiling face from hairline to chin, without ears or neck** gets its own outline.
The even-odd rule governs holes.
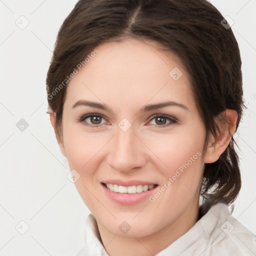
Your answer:
[[[135,39],[97,49],[68,84],[61,150],[98,225],[149,235],[198,207],[205,128],[174,54]]]

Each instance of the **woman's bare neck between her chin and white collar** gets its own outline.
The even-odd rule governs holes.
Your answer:
[[[173,222],[147,236],[126,237],[111,233],[98,224],[102,244],[110,256],[152,256],[186,233],[198,219],[198,199],[192,201]]]

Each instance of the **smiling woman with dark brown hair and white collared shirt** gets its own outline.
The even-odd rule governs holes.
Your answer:
[[[227,208],[241,186],[232,136],[244,104],[239,48],[214,6],[79,0],[46,83],[92,213],[77,255],[256,253]]]

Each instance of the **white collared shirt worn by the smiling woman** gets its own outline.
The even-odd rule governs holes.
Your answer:
[[[85,245],[75,256],[108,256],[92,214],[85,221],[84,239]],[[155,256],[190,255],[255,256],[256,236],[229,213],[226,204],[217,203],[186,233]]]

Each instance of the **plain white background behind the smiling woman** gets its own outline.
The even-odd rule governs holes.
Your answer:
[[[211,0],[232,30],[241,58],[247,110],[234,137],[242,188],[233,216],[256,233],[256,1]],[[46,72],[60,25],[76,0],[0,0],[0,255],[74,255],[89,214],[66,174],[46,114]],[[29,24],[16,25],[23,15]],[[25,23],[23,19],[22,23]],[[254,93],[254,94],[253,94]],[[28,127],[16,123],[24,118]],[[20,234],[24,223],[29,229]]]

